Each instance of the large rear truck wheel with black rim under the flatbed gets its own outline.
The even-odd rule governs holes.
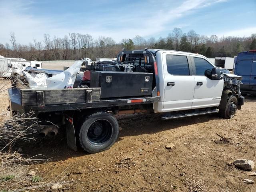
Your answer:
[[[109,149],[118,138],[119,126],[116,118],[106,112],[88,116],[79,131],[81,147],[88,153]]]

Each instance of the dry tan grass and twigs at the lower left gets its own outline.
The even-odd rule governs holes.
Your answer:
[[[0,94],[10,88],[10,80],[0,80]],[[72,188],[77,181],[65,181],[68,174],[64,170],[54,179],[41,176],[38,173],[28,174],[30,165],[42,161],[48,161],[40,154],[27,157],[14,151],[15,144],[22,141],[35,140],[36,125],[38,119],[32,117],[33,113],[21,114],[12,118],[0,118],[0,192],[22,192],[22,191],[48,191],[53,184],[60,184],[62,188]]]

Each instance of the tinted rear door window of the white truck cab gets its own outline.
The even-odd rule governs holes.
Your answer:
[[[166,55],[167,71],[172,75],[189,75],[187,56]]]

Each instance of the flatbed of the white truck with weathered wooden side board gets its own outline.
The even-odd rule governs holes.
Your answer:
[[[82,96],[84,99],[80,99],[77,102],[65,102],[65,99],[59,98],[59,102],[56,102],[54,96],[56,92],[66,92],[67,97],[74,97],[74,92],[76,96]],[[86,94],[93,94],[92,88],[78,88],[78,89],[59,89],[59,90],[26,90],[19,88],[8,89],[10,106],[12,106],[11,112],[19,112],[20,114],[26,114],[33,111],[35,116],[39,113],[44,112],[58,112],[58,111],[70,111],[70,110],[83,110],[83,109],[93,109],[93,108],[113,108],[118,106],[133,106],[138,104],[153,104],[159,102],[160,96],[155,97],[134,97],[134,98],[117,98],[117,99],[92,99],[87,98]],[[30,93],[28,93],[30,92]],[[42,92],[44,94],[42,94]],[[45,97],[45,92],[52,97]],[[33,95],[33,98],[31,98]],[[76,97],[76,98],[77,98]],[[92,97],[92,96],[91,96]],[[47,100],[46,100],[47,99]],[[52,103],[51,103],[52,101]],[[46,104],[51,103],[51,104]]]

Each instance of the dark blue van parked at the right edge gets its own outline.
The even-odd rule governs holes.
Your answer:
[[[256,50],[238,53],[234,74],[242,76],[242,93],[256,94]]]

